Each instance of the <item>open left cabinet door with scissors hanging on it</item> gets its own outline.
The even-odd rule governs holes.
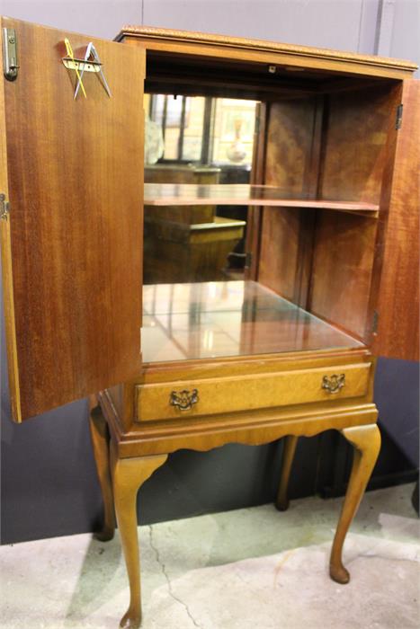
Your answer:
[[[143,84],[138,47],[2,18],[17,76],[0,79],[2,266],[16,421],[140,367]],[[90,41],[101,75],[67,69]],[[7,211],[8,210],[8,211]]]

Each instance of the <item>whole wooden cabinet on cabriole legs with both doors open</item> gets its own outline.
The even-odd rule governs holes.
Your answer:
[[[374,357],[418,359],[416,66],[127,28],[124,45],[94,39],[112,99],[87,72],[87,98],[75,100],[64,39],[84,58],[92,38],[2,27],[20,61],[14,80],[0,79],[13,417],[93,396],[100,536],[113,535],[115,509],[130,580],[121,626],[141,618],[136,494],[179,448],[287,437],[284,509],[296,439],[340,431],[354,459],[330,574],[347,582],[344,537],[380,448]],[[261,100],[253,187],[161,184],[144,195],[144,81],[156,93]],[[249,204],[246,279],[143,292],[144,198]]]

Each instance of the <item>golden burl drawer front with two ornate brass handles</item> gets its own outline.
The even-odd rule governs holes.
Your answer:
[[[136,386],[138,421],[324,402],[367,394],[371,363]]]

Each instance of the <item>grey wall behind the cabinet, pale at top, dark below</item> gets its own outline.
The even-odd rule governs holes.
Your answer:
[[[0,0],[0,13],[108,39],[122,24],[145,23],[362,53],[380,49],[382,55],[420,63],[419,4],[415,0]],[[22,426],[13,425],[4,331],[1,339],[2,540],[92,530],[101,518],[101,498],[86,403],[68,404]],[[388,451],[393,460],[399,456],[398,465],[407,470],[418,465],[416,369],[412,363],[380,361],[375,385]],[[293,495],[319,489],[311,461],[328,443],[328,436],[320,441],[301,440]],[[232,445],[206,454],[178,452],[142,489],[140,520],[179,518],[270,501],[280,456],[281,444],[276,443],[267,447]],[[383,461],[380,465],[386,475],[387,465]]]

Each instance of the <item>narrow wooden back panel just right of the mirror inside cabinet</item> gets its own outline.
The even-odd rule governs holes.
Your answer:
[[[316,98],[273,103],[265,181],[285,199],[315,199],[322,105]],[[258,280],[305,306],[315,210],[264,208]]]

